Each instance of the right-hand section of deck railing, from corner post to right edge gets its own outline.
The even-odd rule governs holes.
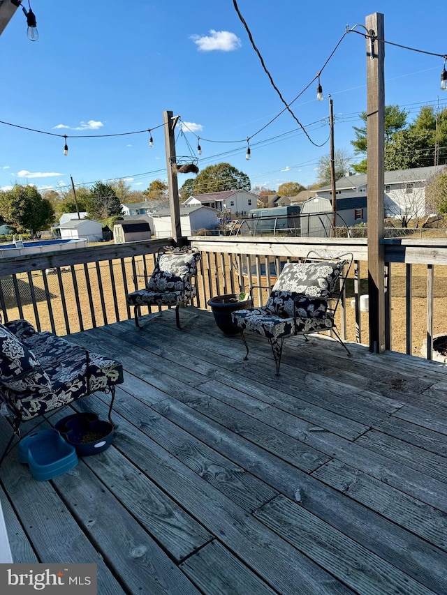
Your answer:
[[[305,258],[309,250],[353,253],[337,323],[343,338],[369,344],[368,312],[361,308],[367,302],[360,299],[368,294],[367,239],[196,236],[190,241],[203,253],[205,303],[212,294],[272,285],[281,262]],[[386,239],[384,245],[386,349],[432,359],[435,333],[447,333],[447,240]]]

